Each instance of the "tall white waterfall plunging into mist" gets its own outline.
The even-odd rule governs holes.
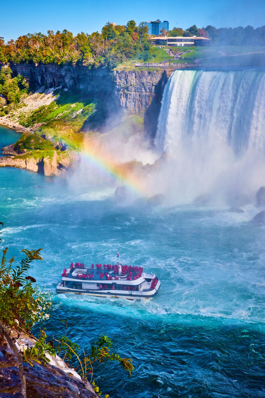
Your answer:
[[[168,155],[164,190],[189,201],[213,191],[226,199],[264,185],[264,92],[263,71],[175,71],[155,139]]]

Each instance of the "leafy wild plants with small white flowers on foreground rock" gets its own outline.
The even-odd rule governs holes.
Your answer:
[[[3,223],[0,222],[0,227]],[[0,232],[1,233],[1,232]],[[0,238],[0,242],[2,239]],[[37,322],[44,322],[49,318],[49,310],[52,306],[50,293],[41,291],[36,285],[36,280],[27,275],[30,264],[34,260],[42,260],[38,250],[23,249],[21,253],[25,258],[21,259],[14,267],[15,258],[9,261],[6,259],[8,248],[2,250],[3,255],[0,261],[0,322],[12,334],[12,330],[30,334],[31,328]],[[35,344],[31,347],[23,346],[22,361],[33,366],[34,363],[47,364],[49,357],[60,355],[68,366],[75,366],[75,370],[83,378],[90,378],[92,387],[101,396],[99,386],[93,379],[93,365],[95,363],[106,363],[117,361],[124,371],[132,373],[134,367],[130,358],[122,358],[117,353],[112,352],[112,341],[104,334],[99,336],[97,341],[91,346],[89,352],[81,350],[77,343],[74,343],[67,336],[67,322],[65,335],[61,338],[54,338],[47,342],[46,332],[41,330]],[[114,388],[115,389],[115,388]],[[104,398],[109,398],[108,394]]]

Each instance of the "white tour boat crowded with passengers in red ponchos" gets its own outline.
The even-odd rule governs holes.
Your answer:
[[[64,268],[56,293],[77,293],[98,297],[149,298],[157,294],[160,281],[154,273],[143,272],[142,267],[122,265],[120,252],[114,265],[99,263],[87,267],[71,263]]]

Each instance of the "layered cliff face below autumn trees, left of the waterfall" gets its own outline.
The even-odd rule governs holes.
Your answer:
[[[172,70],[162,69],[111,71],[52,64],[10,64],[10,67],[15,75],[26,76],[35,86],[85,90],[128,114],[146,115],[147,123],[152,123],[154,116],[157,120],[164,86],[172,73]]]

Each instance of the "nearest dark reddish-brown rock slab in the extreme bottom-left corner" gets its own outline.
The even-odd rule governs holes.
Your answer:
[[[0,324],[0,397],[26,398],[21,357],[14,342]]]

